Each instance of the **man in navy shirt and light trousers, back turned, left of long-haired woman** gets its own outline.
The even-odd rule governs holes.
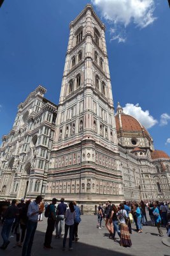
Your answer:
[[[60,198],[60,204],[57,206],[57,220],[55,222],[55,237],[60,238],[62,233],[62,225],[64,223],[64,215],[67,206],[64,204],[64,198]],[[60,225],[60,228],[59,228]]]

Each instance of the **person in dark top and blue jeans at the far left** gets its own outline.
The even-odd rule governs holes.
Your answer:
[[[1,230],[1,236],[3,237],[3,244],[0,247],[2,250],[5,250],[10,243],[9,236],[11,227],[14,221],[18,221],[19,211],[16,206],[17,200],[13,199],[11,205],[6,209],[6,212],[3,216],[3,228]]]

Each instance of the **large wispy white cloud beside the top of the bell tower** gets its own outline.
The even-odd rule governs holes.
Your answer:
[[[155,0],[91,0],[104,19],[113,24],[114,35],[111,40],[125,42],[125,28],[133,23],[139,28],[146,28],[156,17]],[[123,31],[123,33],[122,33]]]

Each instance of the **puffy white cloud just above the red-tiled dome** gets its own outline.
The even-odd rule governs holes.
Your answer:
[[[144,111],[141,109],[139,104],[125,104],[124,113],[127,115],[134,116],[146,129],[151,128],[153,125],[157,124],[157,120],[150,115],[148,110]]]

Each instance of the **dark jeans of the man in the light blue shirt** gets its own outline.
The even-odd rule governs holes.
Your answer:
[[[22,256],[31,256],[32,243],[36,232],[37,222],[29,220],[27,223],[27,234],[22,248]]]

